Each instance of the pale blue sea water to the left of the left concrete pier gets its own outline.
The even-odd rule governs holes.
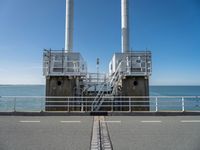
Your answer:
[[[11,97],[6,97],[11,96]],[[15,98],[15,96],[17,98]],[[18,97],[19,96],[19,97]],[[30,96],[20,97],[20,96]],[[45,108],[44,85],[0,85],[0,111],[40,111]],[[1,98],[2,97],[2,98]]]

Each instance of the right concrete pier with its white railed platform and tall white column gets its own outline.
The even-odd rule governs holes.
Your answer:
[[[149,96],[149,76],[152,72],[150,51],[130,51],[129,45],[129,0],[121,0],[122,53],[115,53],[109,64],[109,75],[116,81],[112,84],[113,95]],[[133,110],[149,110],[148,99],[138,99]],[[146,102],[145,102],[146,101]]]

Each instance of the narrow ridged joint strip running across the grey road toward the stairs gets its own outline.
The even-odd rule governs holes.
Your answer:
[[[91,150],[113,150],[108,126],[103,116],[95,116],[93,122]]]

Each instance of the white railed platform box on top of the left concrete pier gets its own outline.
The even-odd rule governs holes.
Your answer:
[[[63,50],[44,50],[44,76],[85,76],[87,65],[80,53],[65,53]]]

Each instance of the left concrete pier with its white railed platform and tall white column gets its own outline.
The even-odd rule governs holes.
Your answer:
[[[45,50],[43,73],[46,96],[80,96],[87,66],[80,53],[73,52],[74,0],[66,0],[65,50]],[[51,107],[61,101],[58,107]],[[69,111],[66,99],[47,98],[46,111]],[[63,107],[61,107],[63,105]],[[71,109],[72,111],[74,109]]]

